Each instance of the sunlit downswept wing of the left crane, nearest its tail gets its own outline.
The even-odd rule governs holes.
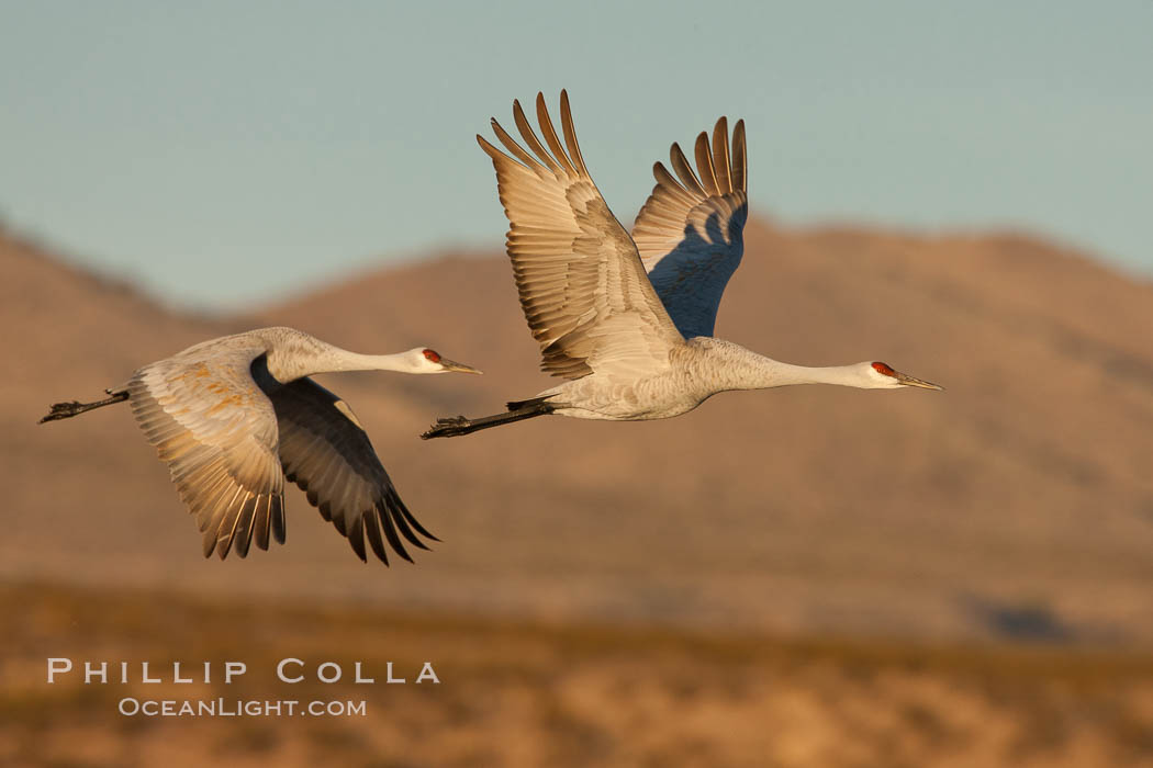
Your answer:
[[[127,385],[136,423],[204,534],[204,556],[285,540],[272,403],[251,374],[263,343],[228,336],[146,365]]]

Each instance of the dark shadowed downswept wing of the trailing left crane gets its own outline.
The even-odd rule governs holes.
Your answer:
[[[345,401],[310,379],[297,379],[270,391],[280,425],[280,461],[285,476],[308,494],[367,561],[364,538],[387,565],[384,540],[412,562],[400,538],[428,549],[416,535],[437,540],[400,501],[364,428]],[[398,535],[399,532],[399,535]],[[383,534],[383,537],[382,537]]]

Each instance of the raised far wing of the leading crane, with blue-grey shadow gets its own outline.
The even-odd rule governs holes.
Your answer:
[[[656,187],[633,225],[649,280],[685,339],[713,335],[721,295],[745,250],[745,121],[733,129],[731,155],[724,117],[713,146],[701,132],[695,149],[699,178],[677,144],[670,160],[679,182],[662,164],[653,166]]]

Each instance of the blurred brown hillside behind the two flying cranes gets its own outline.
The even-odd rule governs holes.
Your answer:
[[[455,440],[445,413],[532,395],[499,256],[360,275],[256,319],[173,315],[0,242],[18,370],[0,420],[8,577],[332,595],[537,617],[921,637],[1153,638],[1153,288],[1015,236],[749,227],[717,332],[781,359],[882,359],[948,391],[718,396],[651,424],[544,418]],[[483,378],[329,377],[443,539],[356,561],[299,494],[286,547],[205,562],[125,409],[37,427],[198,339],[286,324],[416,344]]]

